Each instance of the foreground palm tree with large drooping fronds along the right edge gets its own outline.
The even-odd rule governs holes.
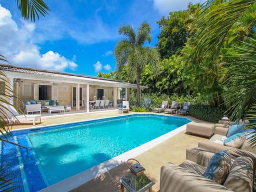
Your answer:
[[[195,46],[194,56],[199,61],[214,63],[212,61],[218,60],[221,47],[232,27],[237,25],[237,21],[239,25],[243,25],[241,21],[249,15],[254,15],[255,18],[256,0],[209,1],[203,9],[202,14],[197,18],[198,43]],[[212,10],[206,12],[208,9]],[[253,30],[248,31],[245,33],[247,36],[255,36]],[[256,119],[256,40],[246,37],[245,34],[237,38],[235,46],[231,47],[228,55],[223,55],[228,66],[224,71],[225,74],[223,73],[227,79],[223,98],[233,120]],[[256,137],[252,138],[251,143],[255,145],[255,142]]]

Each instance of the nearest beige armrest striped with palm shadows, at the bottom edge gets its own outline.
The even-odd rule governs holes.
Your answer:
[[[172,163],[161,167],[160,191],[165,192],[198,192],[198,191],[231,191],[226,187],[206,179]]]

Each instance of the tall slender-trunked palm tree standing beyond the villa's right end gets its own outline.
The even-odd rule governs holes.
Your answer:
[[[115,58],[117,62],[117,73],[121,73],[123,67],[127,66],[130,77],[136,76],[137,103],[140,105],[140,75],[147,64],[157,69],[159,55],[156,49],[150,46],[143,46],[145,42],[151,43],[151,28],[148,22],[143,22],[137,35],[129,25],[119,28],[119,34],[126,38],[118,42],[115,47]]]

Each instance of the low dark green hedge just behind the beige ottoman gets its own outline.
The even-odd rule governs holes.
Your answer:
[[[207,122],[218,123],[225,113],[224,108],[213,108],[207,105],[189,106],[189,115]]]

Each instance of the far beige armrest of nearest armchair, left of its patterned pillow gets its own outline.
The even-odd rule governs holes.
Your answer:
[[[186,159],[197,163],[198,165],[207,167],[214,153],[200,147],[189,147],[186,150]]]

